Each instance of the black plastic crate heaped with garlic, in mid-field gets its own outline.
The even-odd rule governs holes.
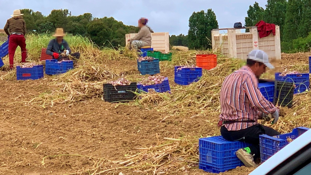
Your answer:
[[[131,83],[130,85],[125,86],[113,86],[112,84],[107,83],[103,86],[105,102],[129,102],[136,98],[136,94],[133,92],[137,89],[137,83]]]

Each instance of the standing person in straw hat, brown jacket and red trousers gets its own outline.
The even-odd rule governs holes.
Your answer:
[[[10,69],[13,69],[14,65],[14,54],[17,46],[21,47],[21,62],[26,62],[27,50],[26,50],[26,22],[23,19],[20,10],[14,10],[12,18],[7,20],[4,26],[4,31],[8,35],[9,40],[9,60]]]

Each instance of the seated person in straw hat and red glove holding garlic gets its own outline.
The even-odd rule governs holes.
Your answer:
[[[57,28],[53,36],[56,38],[50,40],[45,53],[53,56],[53,59],[57,59],[58,61],[69,60],[68,57],[70,55],[74,64],[76,64],[77,60],[80,58],[80,53],[76,52],[71,54],[71,50],[67,41],[63,39],[65,36],[64,30],[62,28]],[[64,53],[63,56],[62,53]]]

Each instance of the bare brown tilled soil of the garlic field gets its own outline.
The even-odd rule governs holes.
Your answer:
[[[282,68],[309,71],[309,54],[282,54]],[[129,77],[143,77],[139,75],[136,60],[114,60],[103,66],[115,70],[115,73],[125,73]],[[180,88],[174,83],[174,68],[167,66],[165,62],[160,62],[160,67],[161,75],[169,78],[174,94]],[[6,72],[2,72],[0,76],[5,74]],[[31,101],[40,94],[56,89],[50,84],[55,77],[45,75],[40,80],[0,80],[0,174],[95,175],[101,171],[104,172],[100,174],[150,174],[135,172],[137,168],[131,168],[133,164],[124,167],[127,163],[120,165],[120,162],[116,161],[125,160],[127,155],[136,155],[144,150],[137,148],[156,149],[157,146],[166,143],[168,138],[220,135],[217,127],[219,113],[212,114],[210,111],[204,111],[204,108],[204,115],[197,115],[191,111],[190,106],[183,106],[185,109],[189,107],[189,111],[178,115],[174,108],[165,111],[155,106],[109,103],[100,98],[68,104],[55,103],[44,107],[39,103],[32,103]],[[309,96],[301,95],[295,102],[309,99]],[[297,111],[298,115],[304,113],[303,107]],[[218,110],[217,108],[218,105],[214,110]],[[289,114],[291,111],[285,109],[285,112]],[[310,124],[309,119],[305,117],[301,121],[305,126]],[[282,123],[276,127],[283,130],[283,125],[287,124]],[[296,125],[285,127],[290,129],[293,126]],[[169,146],[180,146],[179,143],[176,141]],[[178,155],[183,158],[194,155],[196,159],[188,164],[195,164],[198,161],[197,140],[184,148],[191,148],[193,153],[187,152],[187,149],[187,154]],[[164,174],[212,174],[199,170],[197,165],[189,168],[187,164],[178,163],[181,160],[179,158],[167,159],[168,162],[175,162],[174,165],[178,167]],[[170,164],[164,163],[162,166],[169,167]],[[156,167],[159,168],[149,168],[153,171]],[[252,170],[253,168],[239,167],[220,175],[247,175]]]

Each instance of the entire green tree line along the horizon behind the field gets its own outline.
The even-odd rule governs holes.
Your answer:
[[[94,18],[91,13],[72,16],[67,9],[52,10],[48,16],[31,9],[22,9],[21,12],[25,14],[28,32],[46,33],[54,31],[57,27],[63,27],[73,35],[90,37],[99,46],[125,46],[125,34],[139,31],[137,27],[124,25],[122,21],[117,21],[113,17]],[[279,25],[283,52],[309,51],[310,19],[310,0],[267,0],[265,9],[260,7],[258,2],[249,6],[245,26],[254,26],[260,20]],[[211,30],[216,28],[218,21],[212,9],[206,12],[203,10],[193,12],[189,17],[188,34],[171,35],[170,45],[202,50],[211,48]]]

